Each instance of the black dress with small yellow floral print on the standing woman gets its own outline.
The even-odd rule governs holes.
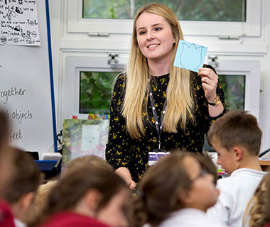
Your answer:
[[[138,182],[148,167],[148,152],[153,149],[158,149],[158,133],[153,124],[153,114],[149,98],[148,115],[143,113],[143,116],[150,121],[145,126],[146,136],[139,139],[132,139],[130,135],[126,133],[126,121],[125,118],[121,116],[121,105],[124,101],[125,89],[124,77],[124,73],[119,74],[112,94],[109,138],[106,145],[106,160],[115,169],[127,167],[131,172],[132,179],[135,182]],[[151,77],[153,98],[158,118],[161,117],[163,104],[166,100],[166,89],[169,79],[169,74],[160,77]],[[190,72],[190,84],[192,89],[194,89],[195,96],[195,109],[193,112],[195,121],[189,121],[185,131],[179,126],[178,133],[161,133],[161,148],[167,151],[178,148],[180,150],[202,153],[205,133],[209,130],[211,123],[219,117],[212,118],[209,116],[208,105],[205,99],[204,90],[202,89],[200,75],[195,72]],[[224,93],[220,82],[217,84],[217,95],[220,96],[220,100],[222,101],[223,106],[225,106]],[[223,111],[223,113],[225,113],[225,111]],[[220,114],[220,116],[222,114]]]

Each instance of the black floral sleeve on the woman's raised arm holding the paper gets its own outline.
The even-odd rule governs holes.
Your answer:
[[[210,65],[204,65],[203,67],[207,67],[207,68],[210,68],[212,69],[216,74],[217,72],[215,71],[215,69],[210,66]],[[194,80],[195,81],[195,96],[197,98],[197,108],[200,109],[200,115],[203,119],[203,131],[205,133],[207,133],[207,131],[209,130],[210,126],[211,126],[211,123],[214,122],[215,120],[217,120],[217,118],[220,118],[220,116],[222,116],[223,114],[225,114],[227,112],[226,110],[226,106],[225,106],[225,96],[224,96],[224,92],[223,92],[223,89],[221,87],[221,84],[220,84],[220,80],[218,80],[217,82],[217,96],[220,96],[220,101],[222,102],[223,106],[224,106],[224,110],[223,112],[219,115],[219,116],[216,116],[216,117],[211,117],[209,115],[209,111],[208,111],[208,104],[207,104],[207,100],[205,98],[205,92],[202,88],[202,81],[201,81],[201,77],[198,76],[197,74],[197,78]]]

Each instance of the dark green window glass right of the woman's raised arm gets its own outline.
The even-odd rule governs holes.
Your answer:
[[[225,93],[226,108],[244,111],[244,75],[219,75],[220,83]]]

